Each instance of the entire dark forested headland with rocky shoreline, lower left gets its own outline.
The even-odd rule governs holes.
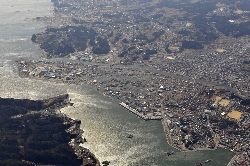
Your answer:
[[[67,104],[68,95],[40,101],[0,98],[0,165],[95,165],[94,156],[78,146],[84,142],[80,121],[53,112]],[[80,140],[74,149],[72,138]]]

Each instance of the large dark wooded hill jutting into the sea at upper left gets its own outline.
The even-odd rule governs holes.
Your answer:
[[[97,33],[84,26],[49,28],[43,34],[32,36],[32,41],[40,43],[41,49],[56,56],[66,56],[75,51],[84,51],[87,41],[94,41]]]

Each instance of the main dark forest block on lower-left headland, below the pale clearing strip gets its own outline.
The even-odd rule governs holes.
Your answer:
[[[81,164],[68,145],[72,136],[63,118],[27,113],[22,106],[0,105],[0,165]]]

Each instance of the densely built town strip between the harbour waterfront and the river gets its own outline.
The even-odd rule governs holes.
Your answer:
[[[248,154],[249,106],[228,90],[162,75],[144,65],[22,59],[17,66],[24,77],[91,84],[144,120],[162,119],[168,143],[178,150],[223,147]]]

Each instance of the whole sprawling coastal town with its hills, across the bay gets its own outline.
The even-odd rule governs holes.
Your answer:
[[[180,151],[225,148],[250,165],[250,9],[242,1],[52,0],[21,77],[89,84]]]

